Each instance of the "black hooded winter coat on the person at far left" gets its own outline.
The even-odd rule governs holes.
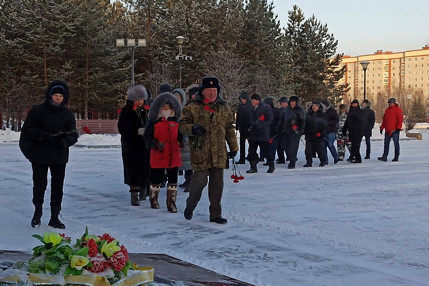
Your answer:
[[[51,88],[61,85],[65,90],[63,101],[55,105]],[[34,105],[21,128],[19,147],[23,155],[32,163],[55,165],[68,162],[68,147],[78,141],[76,121],[73,113],[67,109],[68,87],[64,81],[53,81],[46,89],[45,101]],[[42,140],[42,132],[51,134]],[[67,134],[63,134],[70,132]]]

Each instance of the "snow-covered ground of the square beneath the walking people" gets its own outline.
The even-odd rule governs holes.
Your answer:
[[[422,132],[423,141],[400,142],[396,163],[391,162],[393,144],[389,161],[377,161],[383,142],[374,141],[371,159],[363,164],[302,168],[300,144],[294,170],[276,165],[267,174],[268,167],[259,166],[258,173],[245,174],[249,165],[239,165],[246,179],[235,184],[226,170],[222,203],[227,225],[208,222],[206,190],[192,221],[183,217],[183,192],[176,214],[166,210],[165,189],[159,210],[148,201],[131,206],[120,148],[71,147],[64,232],[77,238],[88,226],[90,233],[108,232],[120,239],[130,252],[169,254],[261,286],[427,286],[429,132]],[[0,249],[30,251],[39,244],[32,234],[54,230],[47,227],[50,191],[42,226],[33,229],[31,165],[18,144],[8,142],[19,135],[5,133],[0,132]],[[373,134],[383,138],[377,129]],[[82,136],[78,144],[120,144],[118,136],[94,138]]]

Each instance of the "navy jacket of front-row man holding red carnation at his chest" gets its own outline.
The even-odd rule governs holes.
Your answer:
[[[249,117],[249,142],[268,142],[270,140],[270,128],[273,122],[273,111],[267,104],[260,102],[255,108],[252,107],[252,114]],[[264,116],[264,120],[260,117]]]

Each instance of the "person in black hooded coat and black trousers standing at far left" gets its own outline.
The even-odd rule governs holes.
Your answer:
[[[67,107],[67,83],[53,81],[46,89],[45,101],[33,106],[22,125],[19,147],[33,169],[33,204],[31,226],[40,226],[47,170],[51,171],[51,219],[49,226],[65,229],[58,219],[63,198],[68,147],[78,141],[76,121]]]

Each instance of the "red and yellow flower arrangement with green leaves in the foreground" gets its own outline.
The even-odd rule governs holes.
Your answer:
[[[133,270],[128,251],[109,234],[88,234],[71,244],[71,238],[55,232],[38,234],[43,245],[33,248],[33,257],[28,261],[30,273],[48,275],[95,274],[113,284]]]

